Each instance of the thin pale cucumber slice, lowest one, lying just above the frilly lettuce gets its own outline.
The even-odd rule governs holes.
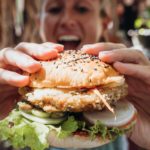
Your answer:
[[[34,122],[38,122],[38,123],[41,123],[41,124],[59,124],[61,123],[62,121],[64,121],[66,119],[66,117],[62,117],[62,118],[57,118],[57,119],[52,119],[52,118],[39,118],[39,117],[36,117],[36,116],[33,116],[32,114],[28,114],[28,113],[25,113],[23,111],[20,111],[21,115],[31,121],[34,121]]]

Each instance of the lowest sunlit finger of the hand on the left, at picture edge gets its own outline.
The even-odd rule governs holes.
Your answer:
[[[11,72],[0,68],[0,84],[9,84],[16,87],[28,85],[29,77],[22,76],[16,72]]]

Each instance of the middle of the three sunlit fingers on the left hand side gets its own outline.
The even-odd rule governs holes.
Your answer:
[[[4,49],[1,52],[0,61],[4,62],[6,66],[15,66],[29,73],[34,73],[41,68],[41,64],[38,61],[11,48]]]

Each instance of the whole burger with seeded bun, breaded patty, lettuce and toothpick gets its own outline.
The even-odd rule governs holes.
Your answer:
[[[38,72],[24,72],[30,83],[0,121],[2,141],[31,150],[93,148],[131,131],[136,109],[123,100],[125,78],[111,65],[80,50],[40,63]]]

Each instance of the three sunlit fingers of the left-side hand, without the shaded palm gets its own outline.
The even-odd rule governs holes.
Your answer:
[[[38,71],[41,67],[37,60],[49,60],[58,56],[63,46],[54,43],[20,43],[14,49],[4,48],[0,51],[0,84],[22,87],[28,84],[29,77],[18,71],[29,73]]]

